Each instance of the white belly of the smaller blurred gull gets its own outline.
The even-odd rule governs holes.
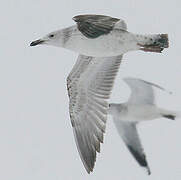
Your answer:
[[[157,107],[153,105],[130,105],[125,120],[144,121],[161,117]]]

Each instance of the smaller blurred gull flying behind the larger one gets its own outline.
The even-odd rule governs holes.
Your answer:
[[[140,166],[151,173],[148,166],[136,125],[139,122],[157,118],[175,120],[178,112],[159,108],[155,104],[155,94],[152,87],[165,90],[162,87],[136,78],[125,78],[124,81],[131,88],[130,98],[126,103],[110,104],[109,114],[112,115],[115,126],[127,148]]]

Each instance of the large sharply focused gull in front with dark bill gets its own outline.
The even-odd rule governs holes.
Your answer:
[[[122,54],[131,50],[161,52],[167,35],[136,35],[126,23],[103,15],[80,15],[77,25],[52,32],[33,41],[35,46],[53,45],[80,55],[67,78],[69,112],[77,148],[88,173],[93,171],[105,131],[108,102]]]

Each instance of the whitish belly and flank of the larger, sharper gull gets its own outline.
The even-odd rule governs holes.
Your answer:
[[[79,54],[95,57],[117,56],[139,49],[133,34],[118,30],[95,39],[77,33],[69,39],[65,47]]]

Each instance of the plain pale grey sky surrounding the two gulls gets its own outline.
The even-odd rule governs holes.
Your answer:
[[[123,18],[137,33],[168,33],[162,54],[130,52],[123,58],[111,102],[124,102],[130,90],[121,80],[140,77],[173,91],[158,91],[158,104],[181,109],[179,0],[7,0],[0,6],[0,179],[1,180],[180,180],[181,119],[139,126],[152,175],[137,165],[109,117],[95,170],[80,161],[68,113],[66,77],[77,54],[29,43],[72,25],[77,14]]]

